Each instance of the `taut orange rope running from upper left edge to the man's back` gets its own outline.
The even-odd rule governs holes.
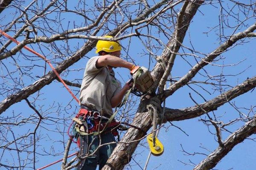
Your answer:
[[[6,34],[5,32],[3,32],[2,30],[0,30],[0,33],[3,34],[5,37],[9,38],[10,40],[12,40],[13,42],[16,42],[17,45],[20,44],[20,42],[18,42],[17,40],[15,40],[14,38],[12,38],[11,36],[9,36],[8,34]],[[64,85],[64,87],[67,89],[67,91],[71,94],[71,96],[73,96],[73,98],[76,100],[76,102],[79,102],[79,99],[76,98],[76,96],[72,93],[72,91],[67,87],[67,84],[63,81],[63,79],[61,79],[60,75],[58,74],[58,72],[55,70],[55,68],[52,66],[51,62],[49,62],[48,59],[46,59],[43,55],[35,52],[34,50],[32,50],[31,48],[24,46],[23,48],[25,48],[26,50],[32,52],[33,54],[37,55],[38,57],[41,57],[42,59],[44,59],[49,66],[52,68],[52,71],[56,74],[56,76],[58,77],[58,79],[62,82],[62,84]]]

